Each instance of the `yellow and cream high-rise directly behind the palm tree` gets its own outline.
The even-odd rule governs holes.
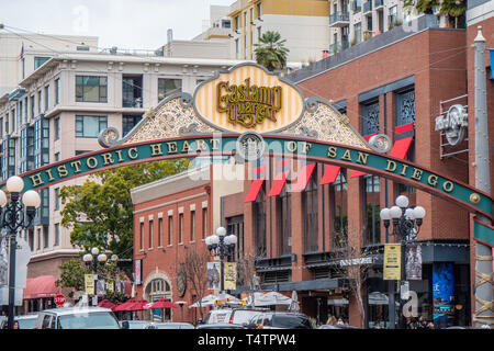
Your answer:
[[[268,31],[287,41],[288,66],[315,61],[329,45],[327,0],[238,0],[228,15],[237,59],[255,59],[255,44]]]

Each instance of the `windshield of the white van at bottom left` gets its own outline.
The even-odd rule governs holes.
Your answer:
[[[115,317],[108,312],[65,315],[58,317],[60,329],[120,329]]]

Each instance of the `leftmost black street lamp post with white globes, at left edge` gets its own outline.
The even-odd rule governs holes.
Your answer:
[[[5,193],[0,190],[0,206],[2,214],[0,228],[8,230],[10,241],[9,258],[9,317],[8,328],[13,329],[14,304],[15,304],[15,250],[18,249],[18,230],[29,228],[36,215],[36,208],[40,207],[40,194],[34,190],[29,190],[22,195],[24,181],[18,176],[10,177],[7,180],[7,191],[10,193],[10,202],[7,202]]]

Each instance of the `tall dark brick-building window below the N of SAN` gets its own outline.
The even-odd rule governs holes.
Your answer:
[[[363,177],[363,227],[366,233],[366,245],[381,242],[380,213],[380,179],[377,176]]]

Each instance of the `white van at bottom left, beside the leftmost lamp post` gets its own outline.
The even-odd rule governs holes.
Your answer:
[[[41,312],[34,329],[120,329],[109,308],[61,307]]]

